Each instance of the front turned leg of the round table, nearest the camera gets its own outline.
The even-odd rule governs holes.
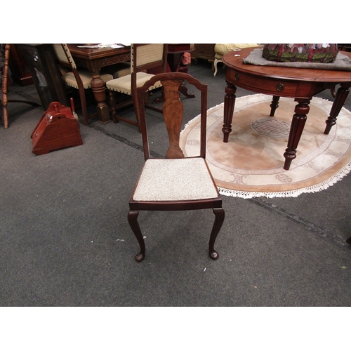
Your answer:
[[[288,147],[284,152],[284,169],[286,170],[290,168],[291,161],[296,158],[296,148],[298,147],[298,142],[300,141],[303,128],[305,127],[307,113],[310,111],[310,106],[308,105],[311,99],[295,99],[295,101],[298,102],[298,105],[295,107],[295,114],[291,121]]]

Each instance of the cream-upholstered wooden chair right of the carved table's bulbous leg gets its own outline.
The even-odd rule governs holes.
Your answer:
[[[161,67],[160,72],[166,72],[168,44],[131,44],[131,74],[108,81],[107,89],[110,91],[110,104],[112,107],[112,119],[114,123],[124,121],[133,126],[138,126],[140,131],[140,121],[136,114],[136,121],[117,115],[117,110],[128,105],[136,106],[136,89],[143,86],[154,74],[147,73],[147,69]],[[155,82],[150,86],[149,91],[160,88],[161,84]],[[131,96],[128,100],[116,101],[116,92]],[[161,112],[157,107],[150,105],[149,95],[144,95],[147,108]]]

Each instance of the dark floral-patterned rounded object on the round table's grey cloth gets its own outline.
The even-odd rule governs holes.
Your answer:
[[[265,44],[263,57],[276,62],[333,62],[338,44]]]

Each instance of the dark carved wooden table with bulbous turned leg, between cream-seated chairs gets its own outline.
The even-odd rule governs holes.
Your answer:
[[[102,67],[131,60],[131,48],[78,48],[77,44],[68,44],[74,62],[78,67],[86,67],[93,76],[91,89],[98,105],[96,107],[100,123],[111,121],[110,110],[106,104],[105,83],[100,78]]]

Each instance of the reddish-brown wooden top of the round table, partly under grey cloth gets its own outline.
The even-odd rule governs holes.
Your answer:
[[[243,62],[251,51],[255,48],[245,48],[241,51],[230,51],[223,55],[222,62],[232,69],[242,73],[253,74],[258,77],[269,77],[274,79],[287,79],[296,81],[314,81],[314,82],[351,82],[350,71],[337,71],[328,69],[305,69],[277,66],[260,66],[249,65]],[[340,51],[351,59],[351,53]],[[240,55],[237,57],[236,55]]]

